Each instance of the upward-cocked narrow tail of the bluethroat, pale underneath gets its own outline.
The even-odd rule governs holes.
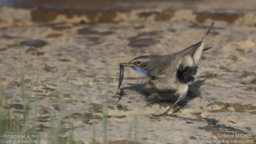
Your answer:
[[[210,25],[210,27],[206,31],[206,33],[205,33],[204,37],[202,38],[201,42],[199,42],[198,48],[197,48],[196,52],[193,55],[193,60],[196,64],[198,64],[199,60],[201,59],[201,55],[202,55],[202,52],[203,52],[203,49],[204,49],[204,44],[205,44],[206,38],[207,38],[208,34],[210,33],[214,23],[215,23],[215,20],[212,21],[212,24]]]

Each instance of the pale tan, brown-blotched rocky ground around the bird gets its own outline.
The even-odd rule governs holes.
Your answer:
[[[17,11],[12,7],[1,10]],[[20,14],[28,11],[27,21],[13,17],[3,20],[1,14],[0,65],[8,103],[14,100],[11,110],[22,115],[20,55],[24,61],[26,93],[31,88],[36,63],[37,132],[47,132],[50,117],[54,112],[59,115],[61,89],[65,106],[63,127],[74,121],[75,141],[92,140],[94,111],[96,142],[102,142],[102,102],[109,104],[109,143],[124,142],[134,118],[138,126],[132,133],[137,131],[139,143],[202,143],[203,139],[217,139],[219,133],[252,133],[250,139],[256,141],[255,11],[248,8],[237,14],[214,9],[208,13],[136,9],[63,19],[57,14],[50,22],[38,23],[31,19],[31,9],[19,10]],[[125,68],[123,84],[116,92],[119,63],[140,55],[171,54],[196,44],[213,19],[216,23],[206,40],[206,47],[213,48],[203,52],[203,72],[173,110],[175,116],[150,115],[163,113],[178,97],[161,94],[165,100],[156,97],[146,101],[159,90],[147,88],[148,78],[131,68]],[[34,89],[31,114],[35,93]]]

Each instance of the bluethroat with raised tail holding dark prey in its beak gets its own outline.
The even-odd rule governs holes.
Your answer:
[[[202,69],[198,66],[202,56],[202,52],[211,48],[204,48],[205,40],[211,31],[215,20],[206,31],[206,34],[200,42],[191,45],[188,48],[170,55],[162,56],[139,56],[129,62],[120,63],[120,77],[118,89],[122,84],[124,77],[124,67],[130,67],[140,74],[149,78],[148,84],[160,90],[175,90],[175,94],[179,94],[170,108],[163,114],[153,116],[171,116],[168,112],[182,99],[185,98],[188,92],[188,85],[193,84]],[[117,91],[118,91],[117,89]],[[148,99],[158,96],[160,92],[153,93]]]

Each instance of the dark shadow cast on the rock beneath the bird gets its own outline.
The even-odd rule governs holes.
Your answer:
[[[198,80],[188,87],[187,96],[183,100],[177,103],[177,106],[179,106],[179,108],[176,109],[173,113],[177,112],[178,110],[188,105],[188,101],[193,100],[195,97],[200,97],[201,92],[199,91],[199,89],[208,77],[209,76],[207,76],[204,80]],[[138,92],[141,95],[144,95],[145,99],[147,99],[151,94],[155,92],[172,92],[172,93],[175,92],[172,90],[159,90],[156,88],[147,88],[146,83],[137,84],[133,86],[120,88],[119,99],[117,100],[117,102],[120,101],[124,96],[124,90],[132,90],[134,92]],[[174,103],[179,97],[178,95],[175,96],[174,94],[171,94],[171,93],[167,93],[167,94],[160,93],[159,96],[162,97],[164,100],[159,100],[158,97],[155,97],[154,99],[148,101],[149,103],[147,105],[158,103],[161,106],[167,107],[167,106],[170,106],[172,103]]]

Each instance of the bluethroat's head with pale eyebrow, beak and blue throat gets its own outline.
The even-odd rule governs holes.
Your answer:
[[[120,63],[119,66],[131,67],[140,74],[146,76],[149,59],[149,56],[139,56],[135,59],[130,60],[129,62]]]

